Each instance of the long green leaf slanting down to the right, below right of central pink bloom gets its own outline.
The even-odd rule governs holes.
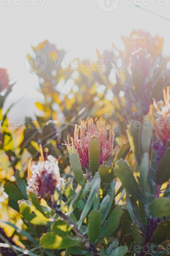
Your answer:
[[[127,162],[121,159],[116,161],[115,170],[117,177],[121,180],[122,185],[125,187],[126,191],[137,200],[147,202],[146,197],[136,182],[132,170],[128,166]]]

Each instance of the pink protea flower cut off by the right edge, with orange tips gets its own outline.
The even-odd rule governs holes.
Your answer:
[[[153,147],[158,152],[158,158],[161,159],[165,151],[165,146],[170,139],[170,87],[167,86],[167,91],[163,90],[164,102],[154,100],[154,106],[150,105],[150,114],[153,122],[153,133],[156,142],[153,142]]]

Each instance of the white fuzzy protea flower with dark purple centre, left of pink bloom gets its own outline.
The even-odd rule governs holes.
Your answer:
[[[60,177],[58,161],[51,155],[44,161],[42,146],[40,145],[41,159],[37,164],[28,165],[28,192],[34,192],[41,197],[48,197],[54,194],[55,189],[61,189],[64,184]]]

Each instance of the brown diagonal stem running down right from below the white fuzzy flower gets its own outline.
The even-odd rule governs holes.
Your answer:
[[[83,235],[83,233],[75,226],[75,224],[70,220],[68,216],[66,216],[60,209],[58,209],[58,206],[55,203],[49,203],[49,206],[51,209],[55,210],[56,213],[60,214],[60,216],[66,220],[67,224],[71,226],[71,228],[74,230],[74,232],[83,240],[83,243],[87,249],[88,252],[90,252],[92,255],[98,255],[96,252],[96,248],[94,245],[90,245],[87,236]]]

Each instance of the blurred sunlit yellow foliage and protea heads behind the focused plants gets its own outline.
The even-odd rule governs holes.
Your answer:
[[[37,161],[40,156],[39,144],[44,152],[60,159],[62,177],[73,183],[68,152],[62,143],[67,135],[73,136],[75,124],[79,125],[80,120],[88,116],[98,119],[103,116],[107,128],[110,125],[115,131],[114,147],[119,149],[127,142],[126,129],[130,121],[141,121],[153,98],[162,100],[162,89],[170,85],[169,57],[162,57],[163,38],[133,30],[129,37],[122,36],[122,40],[125,51],[112,44],[112,48],[103,53],[97,50],[95,61],[69,62],[64,49],[57,49],[48,40],[32,47],[33,53],[27,59],[31,71],[39,78],[39,91],[44,100],[36,102],[41,115],[34,120],[27,117],[22,125],[9,123],[9,110],[3,112],[3,103],[13,85],[9,84],[7,71],[0,69],[1,220],[14,223],[30,234],[43,232],[41,226],[27,226],[18,213],[17,204],[18,200],[27,199],[22,187],[27,182],[29,159]],[[131,151],[126,159],[133,166],[135,159]],[[136,170],[136,166],[133,168]],[[15,199],[10,198],[11,193]],[[124,202],[122,197],[120,203]],[[22,248],[28,245],[26,236],[18,235],[15,227],[5,223],[0,226],[5,236],[11,237],[11,243]]]

